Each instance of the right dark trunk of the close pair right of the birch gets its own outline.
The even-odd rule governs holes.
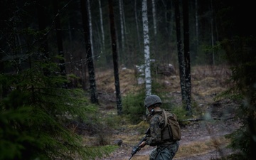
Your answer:
[[[186,110],[191,115],[191,60],[189,53],[188,0],[183,0],[184,63],[186,80]]]

